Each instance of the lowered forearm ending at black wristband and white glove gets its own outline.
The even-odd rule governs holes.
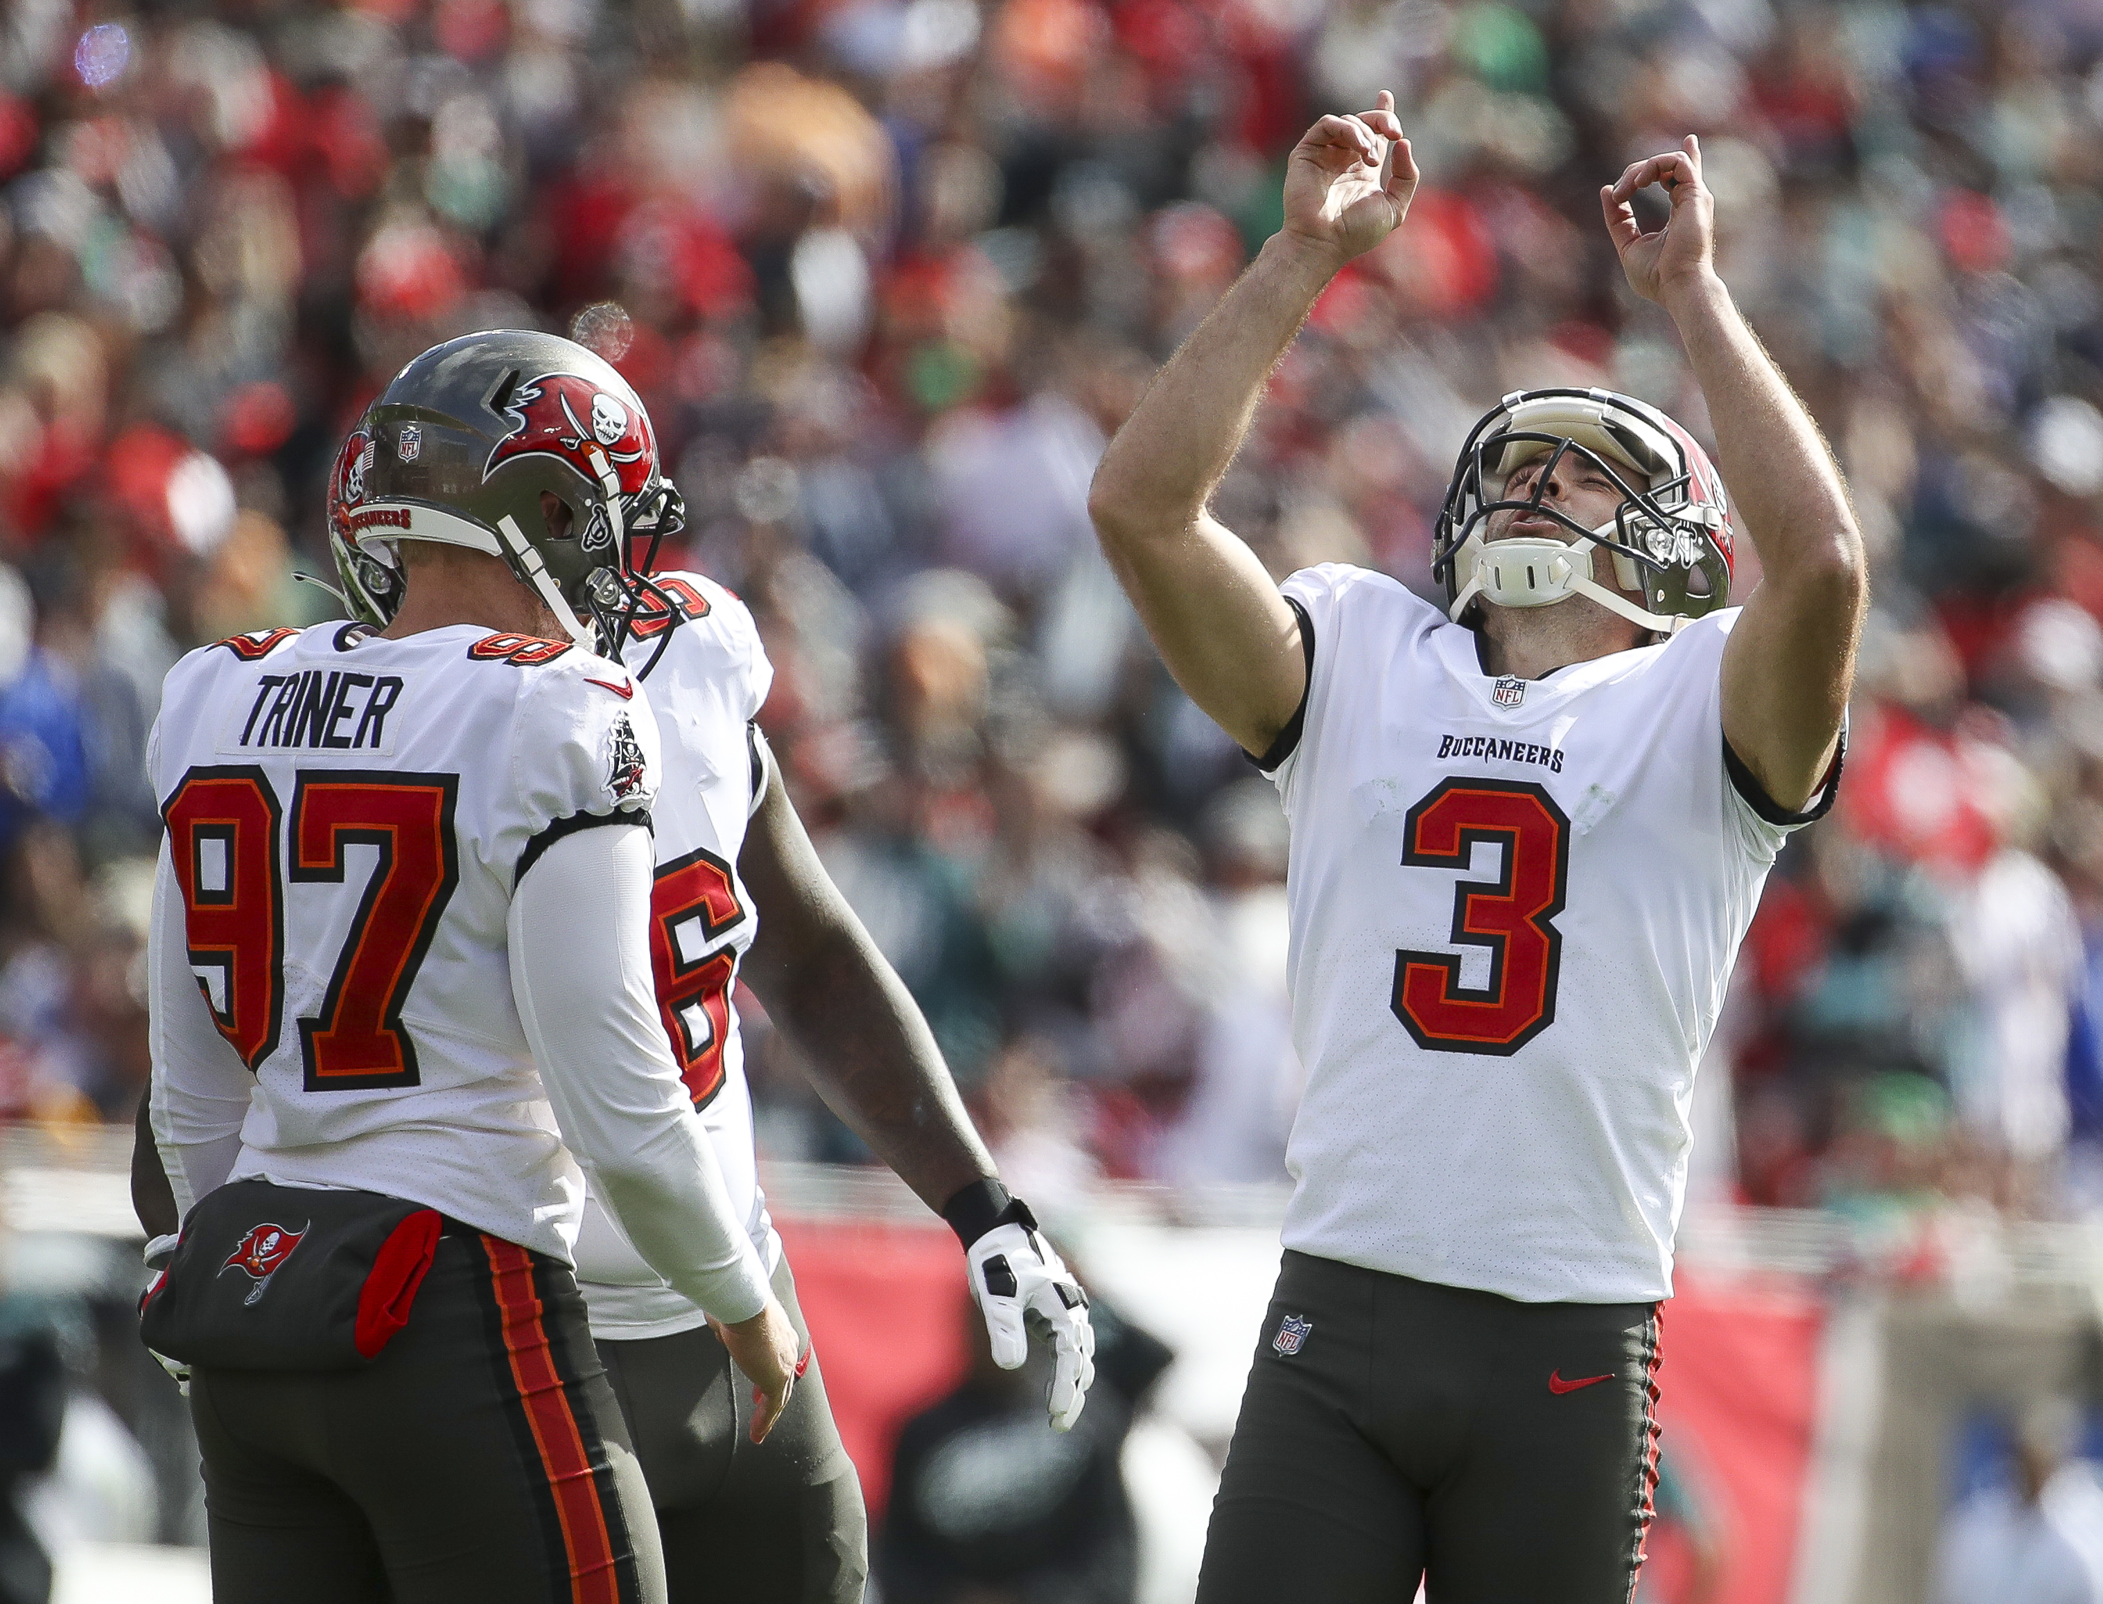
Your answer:
[[[818,1095],[921,1202],[940,1213],[995,1173],[927,1020],[858,923],[753,986]]]

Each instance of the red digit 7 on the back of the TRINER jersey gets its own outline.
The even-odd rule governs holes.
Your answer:
[[[299,1022],[307,1091],[421,1085],[402,1007],[461,883],[452,828],[461,776],[301,769],[294,778],[288,881],[341,885],[353,841],[381,854],[322,1011]]]

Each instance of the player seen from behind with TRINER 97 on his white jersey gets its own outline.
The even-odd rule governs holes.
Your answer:
[[[614,494],[578,498],[593,540],[545,519],[576,479],[545,454],[473,462],[471,511],[418,494],[469,473],[463,425],[393,395],[345,446],[336,488],[358,494],[332,509],[397,555],[385,629],[191,652],[147,744],[166,841],[141,1169],[170,1188],[149,1228],[183,1228],[149,1247],[175,1268],[147,1318],[254,1280],[244,1333],[265,1337],[240,1362],[181,1354],[221,1604],[662,1600],[572,1272],[585,1177],[721,1320],[755,1430],[793,1396],[799,1333],[658,1024],[658,725],[583,643]],[[654,462],[646,479],[660,502]],[[257,1219],[227,1228],[236,1207]],[[326,1299],[273,1282],[336,1263],[313,1221],[360,1209],[404,1219],[347,1282],[336,1362]],[[242,1223],[231,1255],[200,1236]],[[389,1259],[418,1240],[427,1270]]]

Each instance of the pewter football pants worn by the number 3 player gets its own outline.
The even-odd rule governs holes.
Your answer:
[[[1628,1604],[1657,1303],[1514,1303],[1287,1253],[1197,1604]]]

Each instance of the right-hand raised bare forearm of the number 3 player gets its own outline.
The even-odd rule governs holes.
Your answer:
[[[1718,467],[1764,582],[1832,593],[1838,610],[1853,610],[1861,534],[1817,423],[1714,273],[1676,288],[1666,309],[1708,397]]]

